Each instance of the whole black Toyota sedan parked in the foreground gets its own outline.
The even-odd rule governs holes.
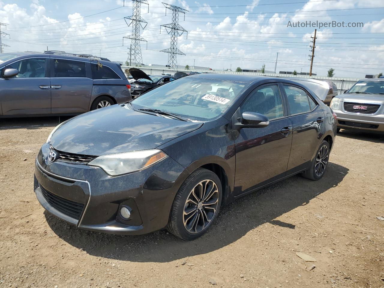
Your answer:
[[[243,195],[298,173],[323,177],[335,134],[332,110],[302,84],[195,74],[58,125],[36,158],[34,189],[78,228],[167,227],[192,240]]]

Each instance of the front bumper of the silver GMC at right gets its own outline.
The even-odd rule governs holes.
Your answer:
[[[347,113],[333,109],[337,116],[337,127],[342,129],[358,129],[371,132],[384,132],[384,115],[367,115]]]

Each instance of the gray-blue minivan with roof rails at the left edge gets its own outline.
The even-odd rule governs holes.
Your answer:
[[[0,54],[0,118],[77,115],[131,100],[116,62],[46,51]]]

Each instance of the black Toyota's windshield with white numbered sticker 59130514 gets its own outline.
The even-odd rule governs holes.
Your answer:
[[[135,109],[158,109],[200,121],[223,114],[248,83],[179,78],[137,97]]]

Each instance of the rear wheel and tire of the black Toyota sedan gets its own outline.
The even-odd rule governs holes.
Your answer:
[[[323,177],[329,161],[329,143],[323,140],[320,144],[319,149],[316,151],[310,168],[303,174],[305,178],[312,180],[319,180]]]

